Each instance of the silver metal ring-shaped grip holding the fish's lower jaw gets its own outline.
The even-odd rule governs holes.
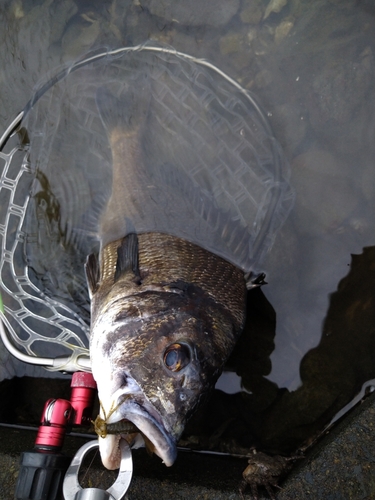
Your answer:
[[[63,483],[65,500],[121,500],[124,498],[133,475],[133,461],[130,447],[125,439],[120,440],[121,464],[116,481],[108,490],[82,488],[78,482],[78,472],[86,454],[99,447],[97,440],[84,444],[76,453],[68,468]]]

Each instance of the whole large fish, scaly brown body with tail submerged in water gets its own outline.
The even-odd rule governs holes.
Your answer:
[[[129,199],[140,196],[147,176],[140,147],[147,103],[129,120],[141,106],[131,93],[118,101],[99,89],[97,106],[114,171],[100,224],[106,234],[114,234],[126,224],[118,213],[131,216]],[[131,231],[131,225],[123,230]],[[187,420],[214,387],[243,329],[244,272],[183,238],[128,232],[103,244],[98,256],[89,256],[86,275],[99,421],[133,423],[148,447],[170,466]],[[99,433],[101,459],[108,469],[119,467],[119,439]]]

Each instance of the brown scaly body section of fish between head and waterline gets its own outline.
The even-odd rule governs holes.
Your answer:
[[[101,300],[114,283],[117,249],[120,244],[121,240],[114,241],[102,251],[101,285],[94,301]],[[170,292],[173,284],[181,281],[201,287],[225,307],[239,324],[242,323],[246,287],[244,274],[240,269],[189,241],[167,234],[140,234],[138,244],[142,285],[127,286],[123,290],[124,296],[146,290]],[[93,308],[96,309],[96,306]]]

